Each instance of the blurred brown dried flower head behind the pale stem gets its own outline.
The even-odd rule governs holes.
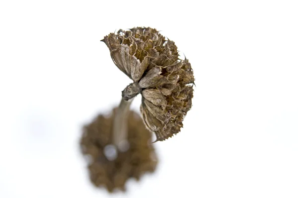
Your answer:
[[[91,182],[96,187],[105,187],[109,192],[115,189],[125,191],[125,183],[129,178],[137,180],[156,168],[157,158],[151,142],[151,133],[146,129],[142,118],[134,111],[128,112],[129,149],[119,152],[111,160],[105,149],[113,145],[113,121],[117,113],[114,108],[111,115],[98,115],[91,123],[83,127],[80,140],[81,151],[89,155],[88,164]]]

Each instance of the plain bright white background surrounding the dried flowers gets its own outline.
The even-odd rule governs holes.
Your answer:
[[[110,197],[78,140],[130,83],[100,40],[134,26],[175,41],[196,88],[155,174],[115,198],[298,198],[296,2],[1,0],[0,198]]]

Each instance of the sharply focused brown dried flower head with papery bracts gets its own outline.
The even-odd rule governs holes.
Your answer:
[[[188,60],[178,58],[175,43],[150,27],[119,30],[102,41],[115,65],[133,80],[123,99],[142,95],[143,120],[156,141],[178,133],[192,105],[194,76]]]

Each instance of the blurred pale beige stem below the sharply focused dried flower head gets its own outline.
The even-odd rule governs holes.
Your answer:
[[[113,123],[113,144],[119,149],[119,151],[124,152],[129,148],[127,141],[127,130],[128,130],[128,114],[129,107],[133,101],[121,99],[119,107],[117,108],[114,123]]]

